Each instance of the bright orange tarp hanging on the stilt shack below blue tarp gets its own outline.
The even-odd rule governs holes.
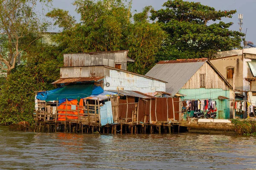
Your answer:
[[[76,105],[76,110],[78,110],[77,108],[77,100],[71,100],[71,101],[67,101],[67,110],[71,110],[71,105]],[[84,102],[83,99],[80,99],[79,102],[79,113],[84,113],[83,109],[84,106]],[[58,106],[58,109],[66,109],[66,102],[61,103],[61,105]],[[58,111],[58,113],[60,114],[66,114],[66,111]],[[77,111],[67,111],[67,114],[72,114],[74,116],[68,116],[67,115],[67,119],[78,119],[78,113]],[[66,115],[58,115],[58,121],[65,121],[66,120]]]

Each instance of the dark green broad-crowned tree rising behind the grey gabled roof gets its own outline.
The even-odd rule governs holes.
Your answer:
[[[151,10],[151,19],[157,19],[157,23],[168,33],[158,60],[211,58],[218,51],[241,48],[244,34],[229,30],[233,23],[221,21],[223,17],[231,18],[236,10],[216,11],[201,3],[183,0],[168,0],[163,6],[166,8]],[[215,23],[209,24],[209,21]]]

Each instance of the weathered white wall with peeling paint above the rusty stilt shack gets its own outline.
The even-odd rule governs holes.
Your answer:
[[[140,91],[142,93],[152,93],[155,91],[166,91],[166,83],[154,79],[137,76],[122,71],[110,70],[110,76],[105,77],[104,90],[129,90]]]

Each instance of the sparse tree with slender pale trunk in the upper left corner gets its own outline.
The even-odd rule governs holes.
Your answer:
[[[35,12],[38,2],[47,5],[51,0],[1,0],[0,1],[0,68],[7,75],[23,50],[47,30],[47,23]],[[29,37],[29,38],[28,38]]]

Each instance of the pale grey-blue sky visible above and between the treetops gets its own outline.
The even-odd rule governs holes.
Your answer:
[[[54,8],[61,8],[68,10],[72,16],[76,17],[76,20],[79,20],[79,15],[76,13],[76,7],[72,5],[73,0],[52,0],[52,7]],[[137,12],[142,11],[145,6],[152,6],[155,10],[163,8],[162,5],[167,0],[133,0],[132,2],[132,11],[135,10]],[[237,11],[236,14],[233,14],[232,18],[223,18],[222,21],[225,23],[233,22],[233,26],[230,27],[231,30],[239,31],[239,20],[238,14],[243,14],[243,26],[242,32],[246,32],[246,40],[253,41],[256,44],[256,34],[254,30],[256,30],[256,22],[254,16],[254,10],[256,0],[187,0],[187,1],[194,1],[200,2],[203,5],[207,5],[210,7],[214,7],[216,10],[235,10]],[[52,29],[52,31],[57,32],[59,31],[58,28]]]

